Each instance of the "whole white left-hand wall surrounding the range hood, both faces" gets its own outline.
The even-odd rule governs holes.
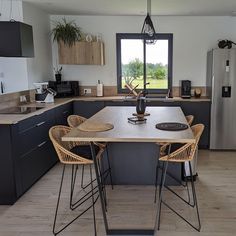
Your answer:
[[[52,53],[50,42],[49,15],[29,3],[13,1],[10,16],[10,1],[0,2],[1,21],[11,18],[33,26],[34,58],[0,57],[0,81],[5,92],[16,92],[34,88],[34,82],[48,81],[52,78]]]

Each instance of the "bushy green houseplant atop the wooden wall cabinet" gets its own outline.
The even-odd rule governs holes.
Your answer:
[[[53,41],[57,43],[63,42],[66,46],[71,47],[76,41],[82,37],[80,27],[74,21],[66,21],[65,18],[62,22],[56,22],[55,27],[52,29]]]

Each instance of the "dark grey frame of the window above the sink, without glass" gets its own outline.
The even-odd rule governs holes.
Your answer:
[[[167,89],[144,89],[148,93],[153,94],[166,94],[169,89],[172,88],[172,77],[173,77],[173,34],[172,33],[163,33],[155,34],[154,39],[165,39],[168,40],[168,88]],[[117,33],[116,34],[116,64],[117,64],[117,91],[118,93],[129,93],[128,89],[122,88],[122,64],[121,64],[121,40],[122,39],[150,39],[148,35],[141,33]],[[143,63],[144,63],[144,83],[146,81],[146,44],[143,44]],[[138,90],[138,89],[137,89]],[[141,89],[139,89],[141,90]]]

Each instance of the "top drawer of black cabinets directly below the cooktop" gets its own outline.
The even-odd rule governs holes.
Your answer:
[[[37,126],[41,122],[44,122],[44,121],[47,121],[50,119],[54,119],[54,110],[53,109],[18,122],[17,123],[18,132],[23,133],[29,129],[34,128],[35,126]]]

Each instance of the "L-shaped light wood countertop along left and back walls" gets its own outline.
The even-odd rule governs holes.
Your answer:
[[[63,104],[72,101],[135,101],[135,98],[126,97],[126,96],[109,96],[109,97],[70,97],[70,98],[56,98],[54,103],[37,103],[31,102],[24,105],[22,107],[43,107],[38,111],[28,113],[28,114],[0,114],[0,124],[15,124],[21,120],[27,119],[29,117],[40,115],[45,111],[50,109],[56,108]],[[166,102],[176,102],[176,101],[184,101],[184,102],[204,102],[210,101],[209,98],[201,97],[201,98],[190,98],[190,99],[183,99],[181,97],[174,97],[174,98],[147,98],[147,101],[166,101]]]

